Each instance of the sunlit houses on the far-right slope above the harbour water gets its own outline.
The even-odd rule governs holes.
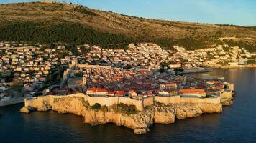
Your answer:
[[[183,47],[174,46],[173,59],[182,62],[184,69],[196,67],[214,66],[239,66],[246,65],[247,59],[252,54],[239,46],[230,47],[228,45],[211,46],[206,49],[186,50]]]

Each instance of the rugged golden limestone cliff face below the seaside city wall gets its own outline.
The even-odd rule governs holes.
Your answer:
[[[146,107],[143,112],[135,114],[124,114],[113,108],[106,110],[91,109],[88,102],[83,97],[39,97],[38,99],[26,99],[25,107],[21,112],[47,111],[52,109],[60,114],[73,113],[84,117],[87,124],[106,124],[114,123],[119,126],[125,126],[134,129],[135,134],[144,134],[148,132],[149,127],[154,123],[170,124],[177,119],[187,117],[197,117],[203,113],[221,112],[221,104],[154,104]]]

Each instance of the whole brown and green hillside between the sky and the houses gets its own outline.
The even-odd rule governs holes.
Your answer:
[[[122,48],[129,42],[155,42],[200,49],[236,36],[232,44],[255,51],[255,27],[144,19],[64,3],[18,3],[0,6],[0,40],[99,44]]]

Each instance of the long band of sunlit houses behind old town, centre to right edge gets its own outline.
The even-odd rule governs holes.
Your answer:
[[[98,64],[102,66],[143,67],[160,69],[161,63],[168,63],[170,69],[196,69],[214,66],[247,65],[253,54],[239,46],[213,45],[206,49],[186,50],[174,46],[173,50],[162,49],[157,44],[129,44],[127,49],[102,49],[99,46],[86,46],[86,53],[78,57],[78,63]],[[81,48],[78,47],[81,52]]]

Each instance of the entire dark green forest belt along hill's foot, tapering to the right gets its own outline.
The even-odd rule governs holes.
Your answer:
[[[0,31],[0,41],[40,43],[47,44],[50,48],[54,47],[54,43],[63,43],[68,44],[68,51],[72,51],[74,54],[78,54],[76,45],[81,44],[99,45],[106,49],[125,49],[127,44],[134,42],[154,42],[166,49],[173,46],[200,49],[206,46],[204,40],[124,36],[67,22],[59,24],[14,22],[1,25]]]

